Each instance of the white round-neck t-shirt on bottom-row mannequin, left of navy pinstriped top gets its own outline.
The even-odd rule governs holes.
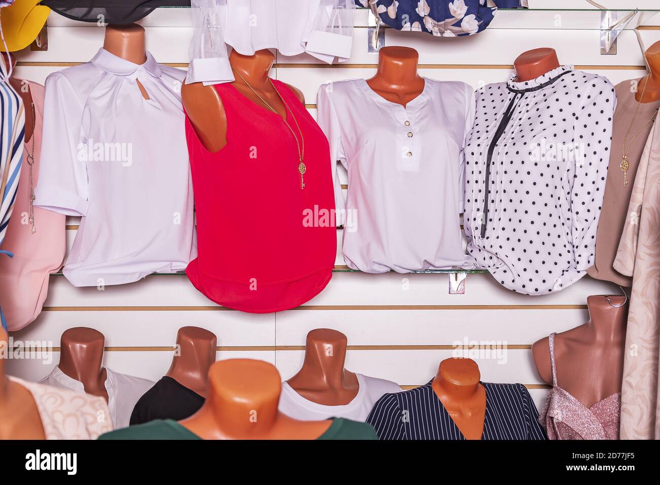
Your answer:
[[[282,382],[279,410],[301,421],[322,421],[328,418],[346,418],[353,421],[364,422],[374,404],[383,394],[399,393],[401,387],[392,381],[368,377],[368,375],[355,374],[360,384],[358,394],[348,404],[341,406],[326,406],[305,399],[288,385]]]

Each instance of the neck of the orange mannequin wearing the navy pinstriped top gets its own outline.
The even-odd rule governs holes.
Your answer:
[[[436,395],[447,404],[465,403],[479,395],[479,367],[474,360],[449,358],[440,362],[432,387]],[[444,398],[449,399],[444,399]]]

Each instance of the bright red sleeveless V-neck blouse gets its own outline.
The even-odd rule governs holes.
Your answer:
[[[332,277],[337,253],[327,139],[294,93],[273,83],[304,136],[304,189],[296,139],[282,117],[232,84],[214,85],[227,120],[222,150],[206,150],[185,119],[197,212],[197,259],[185,273],[210,300],[252,313],[314,298]],[[286,120],[299,137],[288,112]]]

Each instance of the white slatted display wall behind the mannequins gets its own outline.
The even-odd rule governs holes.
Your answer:
[[[644,7],[641,1],[636,3],[639,8]],[[655,2],[649,1],[647,7],[652,7],[651,3]],[[530,0],[529,6],[539,9],[588,5],[578,1]],[[385,45],[417,49],[423,76],[465,81],[475,88],[505,81],[513,59],[522,51],[537,47],[552,47],[561,63],[604,75],[614,84],[644,75],[642,50],[634,32],[620,35],[616,55],[600,55],[598,30],[551,28],[552,24],[547,29],[523,28],[529,26],[526,15],[529,12],[500,11],[488,30],[470,38],[438,39],[387,29]],[[561,24],[561,15],[570,16],[555,13],[548,15],[548,20]],[[273,77],[300,88],[313,115],[320,84],[374,73],[378,53],[368,52],[366,19],[367,12],[360,11],[356,25],[362,27],[355,29],[348,63],[327,66],[308,55],[277,55]],[[139,23],[147,31],[147,49],[159,63],[187,67],[192,30],[187,9],[158,9]],[[660,18],[653,18],[651,24],[654,25],[641,30],[645,46],[660,40]],[[516,26],[519,28],[513,28]],[[103,36],[104,29],[94,24],[51,14],[48,51],[27,49],[19,53],[17,75],[43,84],[49,73],[91,59],[102,45]],[[163,170],[167,170],[166,166]],[[347,183],[343,169],[341,179]],[[78,223],[77,218],[67,218],[69,247]],[[341,229],[337,230],[337,237],[341,241]],[[286,265],[287,261],[282,260],[281,264]],[[336,265],[345,269],[341,254],[337,255]],[[267,360],[287,379],[302,364],[306,333],[329,327],[348,337],[348,370],[396,381],[404,389],[428,382],[438,363],[454,354],[457,342],[496,344],[504,348],[470,354],[479,364],[482,380],[523,383],[540,406],[547,386],[535,370],[531,344],[552,331],[561,332],[587,321],[587,296],[620,294],[618,287],[585,276],[562,292],[525,296],[502,288],[490,275],[481,273],[469,274],[465,294],[458,295],[448,293],[447,278],[442,274],[335,272],[327,288],[304,306],[254,315],[215,306],[183,274],[148,276],[133,284],[103,289],[75,288],[63,276],[53,275],[44,311],[26,329],[13,333],[13,337],[52,342],[57,348],[65,329],[92,327],[106,336],[108,367],[155,381],[168,370],[178,328],[195,325],[217,335],[218,359]],[[12,360],[8,372],[38,380],[50,372],[58,358],[55,354],[51,364]]]

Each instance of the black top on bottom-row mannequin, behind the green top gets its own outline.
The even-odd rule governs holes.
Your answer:
[[[182,420],[195,414],[202,404],[203,397],[165,375],[137,401],[130,424],[154,419]]]

